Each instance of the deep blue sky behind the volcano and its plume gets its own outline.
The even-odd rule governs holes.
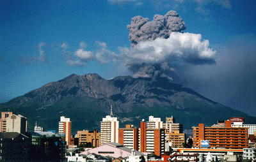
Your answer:
[[[133,60],[122,59],[122,51],[131,47],[127,25],[132,17],[152,21],[170,10],[186,23],[184,33],[209,41],[207,49],[214,51],[209,57],[215,61],[179,62],[170,77],[256,115],[255,1],[1,1],[0,103],[72,73],[97,73],[105,79],[134,75],[127,68]]]

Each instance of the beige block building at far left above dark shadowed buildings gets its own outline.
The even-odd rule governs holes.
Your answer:
[[[6,119],[6,132],[17,132],[26,134],[27,118],[22,115],[12,114]]]

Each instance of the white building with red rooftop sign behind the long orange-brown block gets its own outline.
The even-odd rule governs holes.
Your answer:
[[[244,117],[230,117],[229,120],[231,121],[232,127],[249,128],[249,135],[254,135],[256,132],[256,124],[244,124]]]

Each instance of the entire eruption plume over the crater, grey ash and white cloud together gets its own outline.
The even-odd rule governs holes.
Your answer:
[[[125,66],[133,77],[168,76],[175,71],[174,64],[215,63],[216,51],[209,48],[209,41],[202,41],[200,34],[183,33],[186,24],[176,11],[155,15],[152,22],[133,17],[127,29],[132,48],[122,49],[121,53],[129,58]]]

